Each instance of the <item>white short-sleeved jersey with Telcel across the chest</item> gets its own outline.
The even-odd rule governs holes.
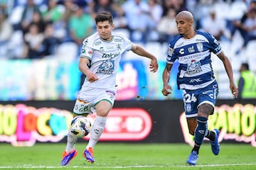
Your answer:
[[[85,79],[82,88],[92,87],[112,89],[116,84],[119,62],[124,52],[132,49],[132,42],[122,35],[112,33],[110,41],[100,38],[98,33],[86,38],[82,45],[80,57],[90,60],[90,71],[94,72],[98,80],[89,82]]]

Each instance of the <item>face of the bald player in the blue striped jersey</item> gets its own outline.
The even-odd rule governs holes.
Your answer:
[[[183,17],[177,17],[176,18],[176,25],[178,28],[178,33],[181,35],[186,35],[191,30],[191,26],[193,24],[193,21],[183,18]]]

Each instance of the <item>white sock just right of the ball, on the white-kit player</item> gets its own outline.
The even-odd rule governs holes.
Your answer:
[[[94,148],[97,141],[100,139],[100,136],[102,135],[102,132],[106,125],[107,117],[102,117],[97,115],[95,118],[95,122],[92,125],[92,129],[90,130],[90,140],[88,142],[88,145],[86,149],[89,147]]]

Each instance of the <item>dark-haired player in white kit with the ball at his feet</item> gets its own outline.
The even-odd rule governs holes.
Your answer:
[[[139,56],[151,60],[149,69],[156,72],[156,57],[140,45],[132,43],[122,35],[112,33],[112,15],[109,12],[97,13],[95,17],[97,33],[83,41],[80,52],[79,69],[86,79],[73,108],[75,115],[88,115],[96,112],[95,122],[90,130],[90,140],[82,155],[88,162],[95,162],[93,148],[105,128],[107,114],[112,110],[117,95],[116,74],[124,52],[132,50]],[[75,142],[78,137],[68,132],[68,142],[63,153],[61,166],[68,165],[77,154]]]

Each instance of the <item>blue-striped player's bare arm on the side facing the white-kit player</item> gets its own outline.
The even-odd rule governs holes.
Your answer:
[[[162,94],[164,94],[164,96],[168,96],[169,94],[171,94],[171,86],[169,85],[169,79],[170,79],[170,74],[171,74],[171,68],[173,67],[173,64],[169,64],[166,62],[166,67],[164,68],[164,72],[162,74],[162,79],[163,79],[163,90],[162,90]]]

